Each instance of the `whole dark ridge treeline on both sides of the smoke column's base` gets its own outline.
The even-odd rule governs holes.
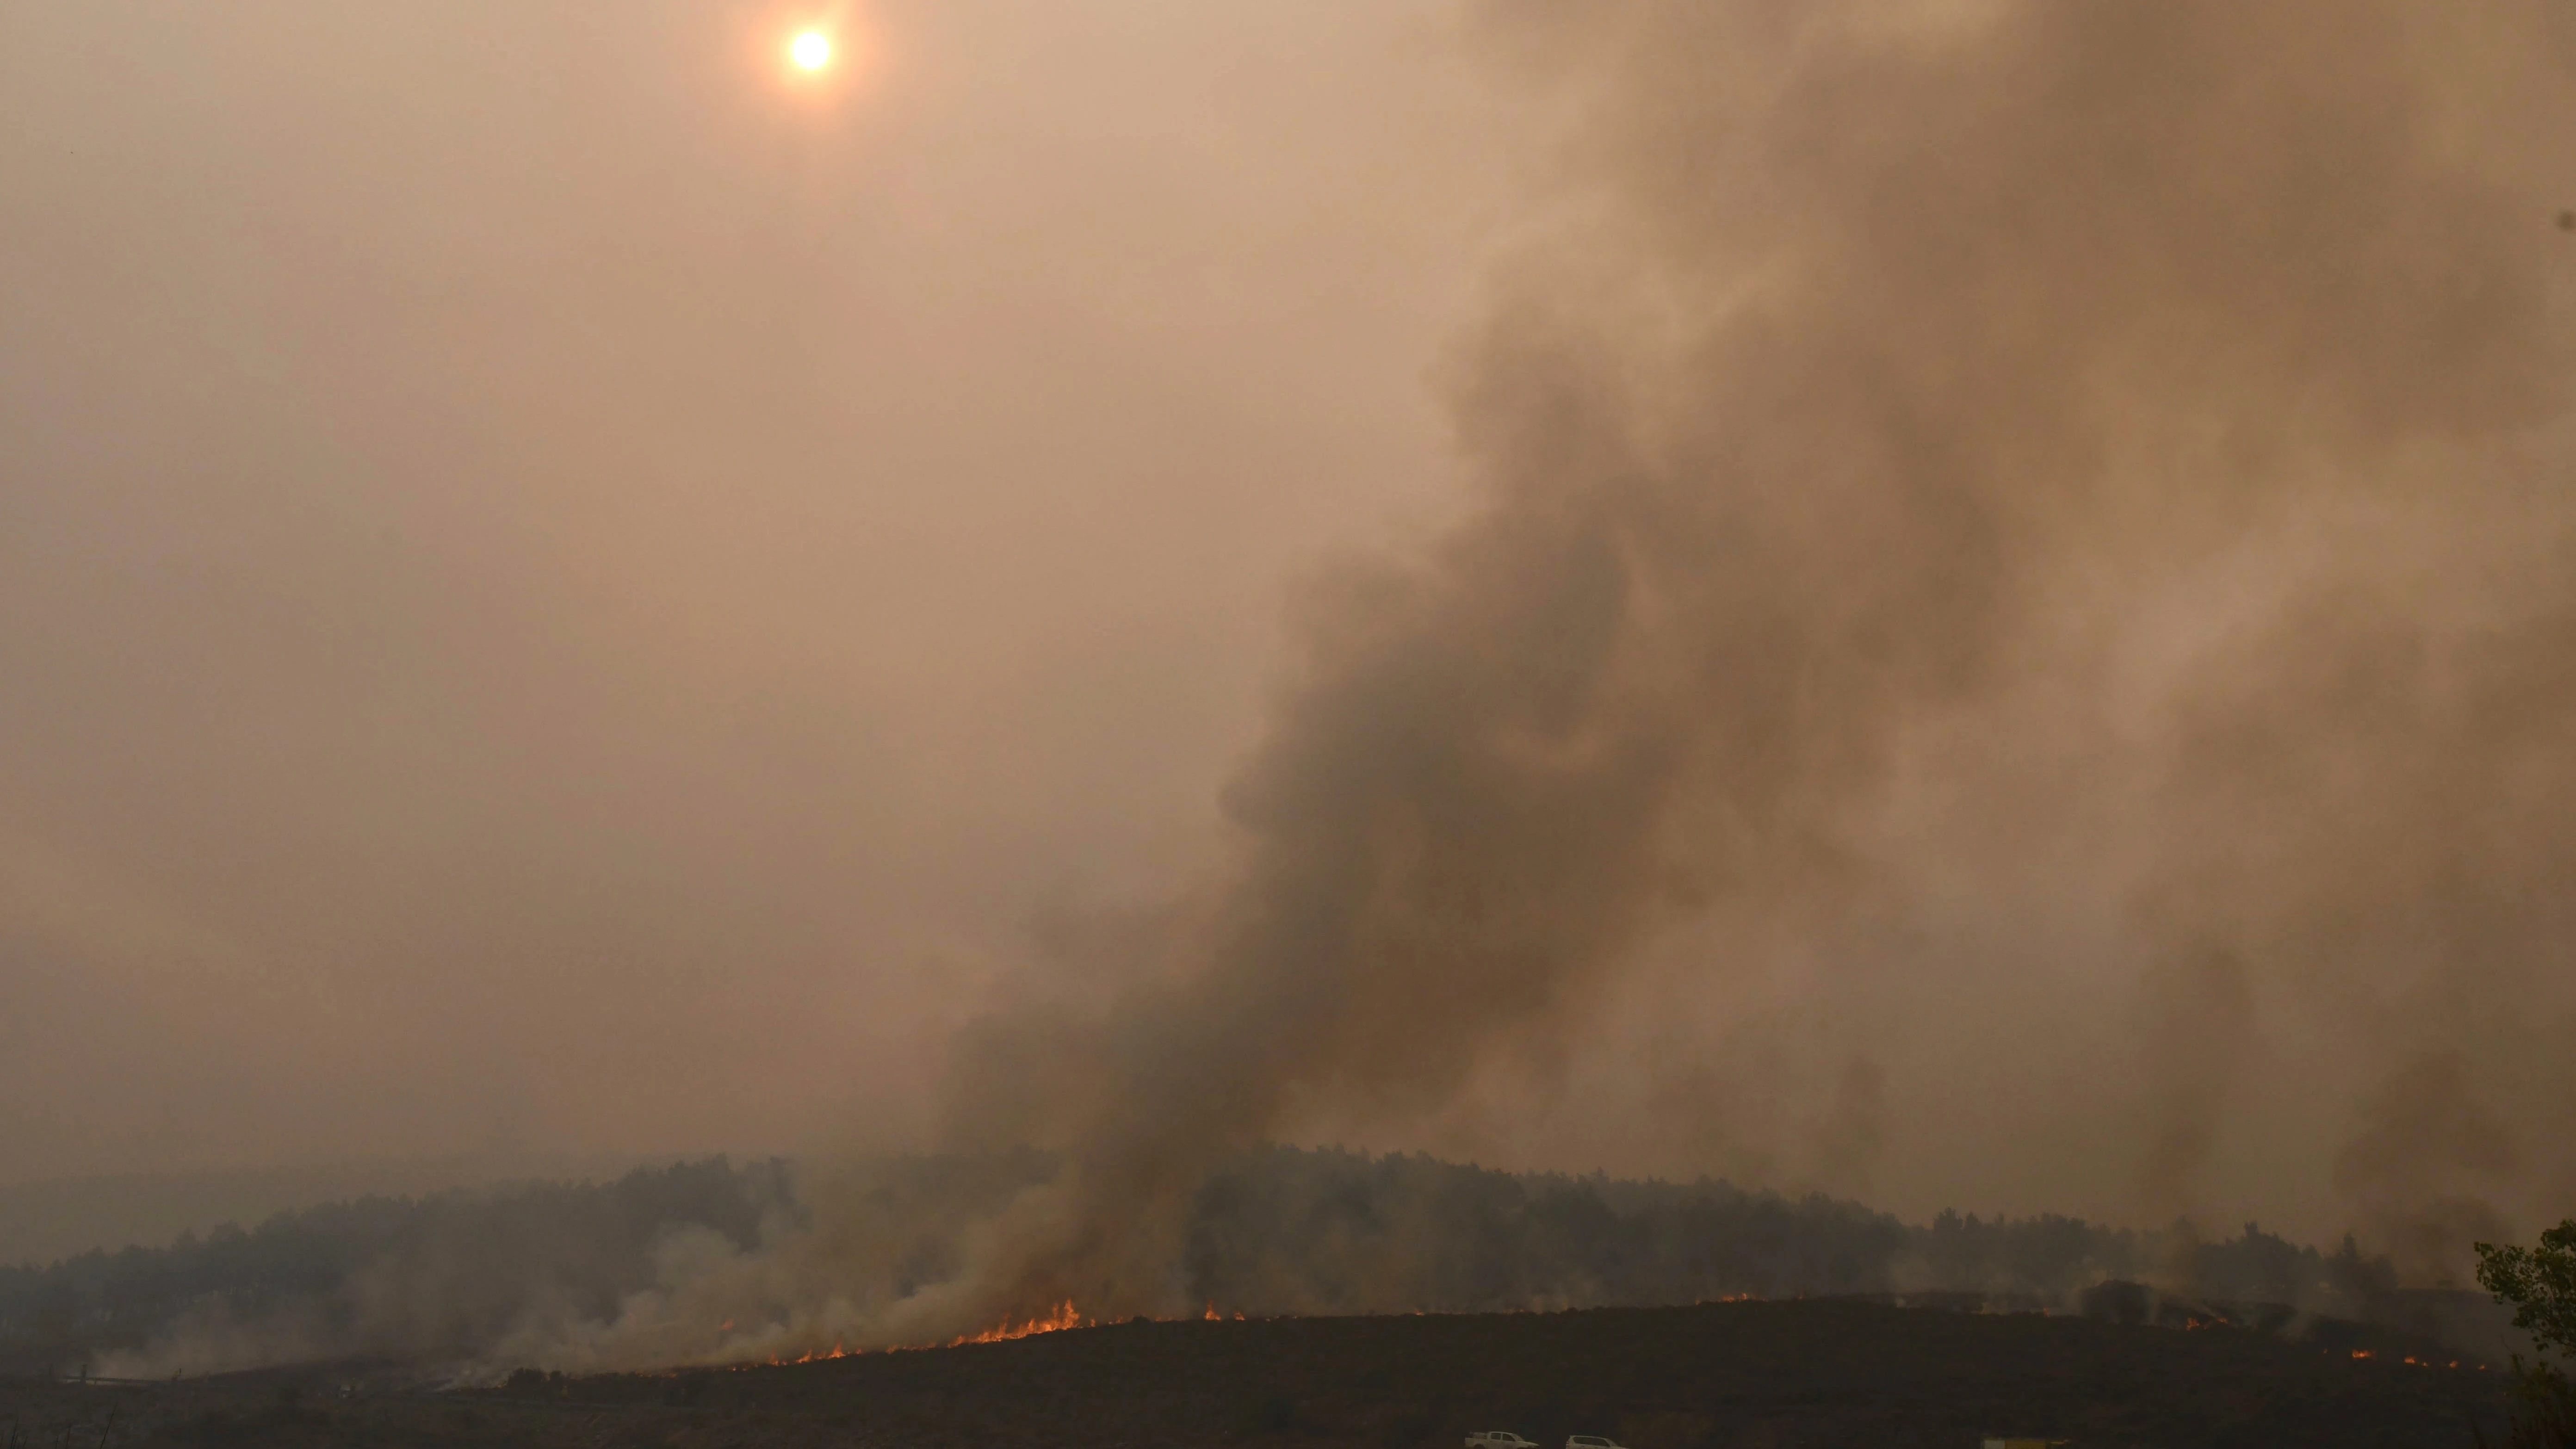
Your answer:
[[[1051,1165],[1036,1155],[871,1165],[858,1209],[922,1232],[896,1292],[953,1271],[940,1232]],[[925,1207],[927,1204],[927,1207]],[[721,1158],[611,1183],[361,1199],[167,1248],[0,1269],[0,1366],[72,1366],[173,1341],[201,1366],[386,1354],[479,1359],[536,1318],[611,1320],[690,1240],[750,1250],[791,1232],[786,1163]],[[2200,1243],[2071,1217],[1906,1225],[1829,1196],[1721,1181],[1522,1176],[1432,1158],[1267,1147],[1198,1194],[1182,1250],[1221,1312],[1473,1312],[1716,1297],[1976,1292],[2071,1302],[2161,1281],[2210,1299],[2347,1312],[2388,1284],[2347,1240],[2318,1253],[2259,1232]],[[180,1366],[196,1359],[175,1359]]]

